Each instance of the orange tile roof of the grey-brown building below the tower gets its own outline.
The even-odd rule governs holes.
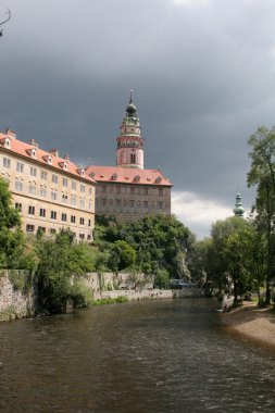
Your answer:
[[[173,186],[160,170],[90,165],[86,168],[86,173],[99,183]]]

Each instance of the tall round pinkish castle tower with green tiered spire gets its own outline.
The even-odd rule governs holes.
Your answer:
[[[116,166],[143,170],[143,142],[139,116],[133,102],[130,90],[129,103],[122,121],[121,134],[116,138]]]

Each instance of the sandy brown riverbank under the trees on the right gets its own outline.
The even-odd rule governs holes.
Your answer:
[[[275,350],[275,313],[247,302],[230,313],[222,313],[222,327],[262,347]]]

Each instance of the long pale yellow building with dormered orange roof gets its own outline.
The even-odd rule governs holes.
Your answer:
[[[68,155],[41,150],[34,139],[23,142],[7,129],[0,133],[0,176],[10,183],[24,231],[70,228],[76,240],[92,239],[96,182]]]

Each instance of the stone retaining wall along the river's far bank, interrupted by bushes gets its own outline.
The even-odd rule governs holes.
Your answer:
[[[145,274],[89,273],[84,283],[95,299],[157,300],[201,297],[197,288],[182,290],[153,289],[153,277]],[[0,270],[0,321],[33,316],[37,313],[37,289],[34,277],[21,270]]]

